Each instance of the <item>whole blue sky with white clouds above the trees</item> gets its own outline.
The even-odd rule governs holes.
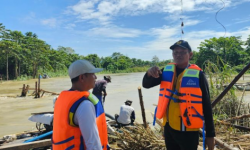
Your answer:
[[[169,47],[187,40],[193,50],[212,37],[250,35],[250,0],[0,0],[0,23],[33,32],[53,48],[100,57],[170,59]],[[181,7],[182,6],[182,7]],[[183,11],[181,11],[181,8]],[[181,35],[181,20],[184,35]]]

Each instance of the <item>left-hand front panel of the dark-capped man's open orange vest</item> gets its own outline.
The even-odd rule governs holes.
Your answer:
[[[175,77],[175,64],[170,63],[164,69],[162,73],[162,81],[160,85],[158,106],[156,111],[156,117],[161,119],[166,112],[168,107],[169,98],[165,95],[170,95],[170,92],[166,89],[172,89],[173,79]]]

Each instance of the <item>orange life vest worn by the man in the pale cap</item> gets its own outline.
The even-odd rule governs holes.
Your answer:
[[[74,114],[84,100],[90,100],[95,106],[96,124],[101,145],[103,150],[108,149],[107,124],[101,102],[87,91],[63,91],[59,95],[54,109],[53,150],[86,149],[80,128],[74,123]]]

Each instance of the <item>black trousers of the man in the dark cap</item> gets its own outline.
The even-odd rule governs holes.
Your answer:
[[[168,123],[164,126],[164,137],[167,150],[197,150],[199,144],[198,131],[177,131]]]

